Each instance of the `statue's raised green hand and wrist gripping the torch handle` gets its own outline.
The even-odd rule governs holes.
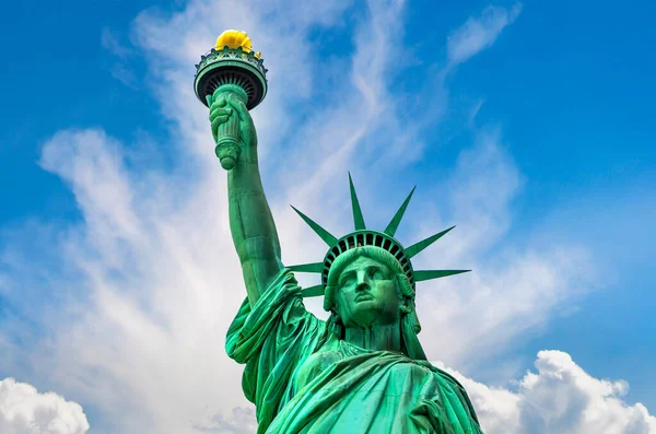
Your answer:
[[[216,141],[219,126],[236,116],[239,122],[239,156],[238,162],[257,163],[257,134],[253,118],[244,103],[232,93],[208,96],[210,102],[210,122],[212,136]]]

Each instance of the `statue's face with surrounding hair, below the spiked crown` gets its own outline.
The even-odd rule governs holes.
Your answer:
[[[340,255],[330,268],[324,295],[324,308],[345,328],[400,322],[405,315],[414,314],[414,290],[401,265],[375,246]]]

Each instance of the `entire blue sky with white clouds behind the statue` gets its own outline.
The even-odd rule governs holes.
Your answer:
[[[223,349],[245,296],[225,173],[192,92],[242,28],[270,70],[253,116],[283,262],[325,254],[290,203],[339,235],[347,171],[371,227],[418,185],[398,238],[457,227],[415,268],[473,269],[418,285],[420,338],[485,433],[656,433],[655,7],[443,3],[12,5],[0,431],[255,431]]]

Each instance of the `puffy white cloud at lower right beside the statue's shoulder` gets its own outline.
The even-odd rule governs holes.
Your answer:
[[[625,382],[595,378],[562,351],[540,351],[535,366],[513,390],[447,371],[467,389],[485,434],[656,433],[656,418],[642,403],[622,400]]]

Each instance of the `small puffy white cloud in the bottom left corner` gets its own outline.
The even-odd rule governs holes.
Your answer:
[[[13,378],[0,380],[0,433],[84,434],[86,415],[79,403],[57,394],[39,394]]]

